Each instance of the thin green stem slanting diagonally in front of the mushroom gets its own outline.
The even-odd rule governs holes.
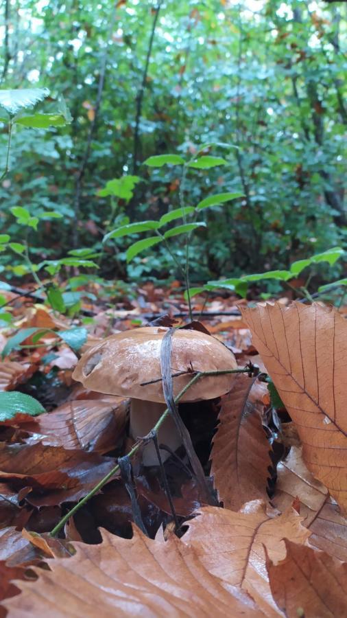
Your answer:
[[[243,372],[244,370],[239,369],[239,371]],[[234,373],[235,373],[235,369],[231,369],[230,371],[200,371],[193,378],[191,378],[191,380],[188,382],[187,385],[185,385],[182,391],[178,393],[178,396],[175,397],[174,401],[175,403],[178,403],[182,399],[182,397],[185,395],[185,393],[187,393],[187,391],[195,384],[195,382],[198,382],[198,380],[200,380],[200,378],[204,378],[204,376],[216,376],[218,374],[234,374]],[[137,453],[139,448],[141,448],[141,446],[143,446],[143,444],[145,444],[145,442],[148,441],[152,431],[158,432],[158,430],[160,429],[160,427],[162,426],[163,422],[165,421],[168,415],[169,415],[169,409],[167,408],[163,412],[163,414],[160,416],[160,419],[156,422],[156,424],[154,425],[152,430],[149,432],[149,434],[139,439],[136,442],[136,444],[134,444],[134,446],[128,453],[128,457],[132,457],[133,455],[135,455],[135,453]],[[97,492],[99,492],[99,490],[101,490],[104,487],[104,485],[106,485],[106,483],[108,483],[108,481],[110,481],[110,479],[112,479],[112,477],[115,476],[117,472],[119,472],[119,464],[117,464],[114,468],[112,468],[112,470],[110,470],[110,472],[108,472],[108,474],[106,474],[106,476],[103,479],[101,479],[101,481],[99,481],[99,483],[97,483],[97,485],[95,485],[95,487],[90,492],[88,492],[88,494],[86,494],[86,496],[84,496],[84,498],[82,498],[80,502],[75,504],[75,506],[71,510],[69,510],[69,512],[67,512],[67,514],[64,515],[64,517],[61,518],[60,522],[58,522],[58,524],[53,528],[53,530],[49,533],[49,535],[55,536],[56,534],[58,534],[58,532],[62,529],[62,527],[64,527],[64,525],[67,523],[69,518],[72,517],[75,513],[77,513],[77,511],[79,511],[80,508],[84,504],[86,504],[86,502],[88,502],[88,500],[90,500],[93,496],[95,496],[95,494],[97,494]]]

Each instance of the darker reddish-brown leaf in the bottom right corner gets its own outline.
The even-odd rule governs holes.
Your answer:
[[[285,540],[287,556],[267,562],[272,594],[288,618],[346,616],[347,564]]]

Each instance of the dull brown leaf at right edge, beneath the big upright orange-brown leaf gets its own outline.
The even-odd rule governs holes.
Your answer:
[[[338,512],[326,487],[305,466],[301,448],[291,447],[288,457],[277,466],[272,503],[283,512],[298,500],[300,515],[304,516],[302,525],[312,532],[310,545],[347,561],[347,518]]]

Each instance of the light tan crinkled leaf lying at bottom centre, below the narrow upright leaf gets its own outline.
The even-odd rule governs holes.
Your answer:
[[[244,505],[239,512],[204,507],[189,521],[182,540],[193,545],[210,573],[240,586],[265,615],[272,617],[278,615],[278,609],[270,591],[264,547],[275,564],[285,558],[284,537],[304,543],[310,536],[301,520],[294,509],[269,516],[259,500]]]

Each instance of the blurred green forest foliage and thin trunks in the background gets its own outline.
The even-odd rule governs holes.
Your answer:
[[[177,272],[161,245],[127,266],[125,250],[140,236],[103,246],[104,233],[158,219],[180,198],[195,206],[243,192],[202,213],[193,282],[288,268],[342,244],[345,13],[343,3],[301,0],[6,0],[1,89],[47,87],[36,111],[56,112],[63,98],[72,120],[14,129],[1,232],[26,238],[34,262],[87,247],[101,251],[110,279],[166,278]],[[143,165],[167,153],[187,160],[211,142],[222,145],[204,153],[227,165],[190,169],[184,185],[179,167]],[[130,194],[103,194],[129,174],[140,179]],[[21,226],[13,207],[38,217],[37,229]],[[51,211],[62,217],[45,217]],[[1,264],[11,276],[27,269],[7,251]]]

